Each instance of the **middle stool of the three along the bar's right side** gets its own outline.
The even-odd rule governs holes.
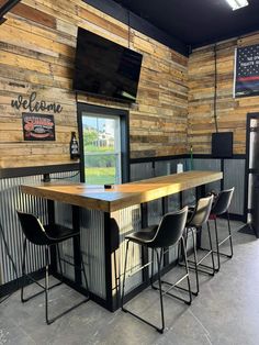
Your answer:
[[[191,264],[189,267],[191,269],[195,270],[195,280],[196,280],[196,290],[192,291],[193,294],[198,296],[200,291],[200,286],[199,286],[199,271],[209,274],[211,276],[214,276],[215,271],[215,264],[214,264],[214,257],[213,257],[213,247],[212,247],[212,237],[211,237],[211,230],[210,230],[210,224],[207,222],[211,209],[212,209],[212,203],[213,203],[213,196],[206,197],[206,198],[201,198],[196,202],[195,208],[189,208],[189,214],[188,214],[188,221],[187,221],[187,229],[185,229],[185,242],[188,241],[188,235],[191,232],[192,234],[192,242],[193,242],[193,255],[194,255],[194,260],[188,260],[189,264]],[[210,249],[207,253],[198,260],[198,253],[196,253],[196,236],[201,235],[201,230],[202,226],[207,224],[207,234],[209,234],[209,245]],[[202,264],[203,260],[211,255],[212,259],[212,266],[204,265]],[[201,267],[202,268],[201,268]]]

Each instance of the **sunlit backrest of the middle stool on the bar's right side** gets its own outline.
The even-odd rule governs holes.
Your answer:
[[[188,221],[188,226],[201,227],[206,223],[213,203],[213,196],[199,199],[195,210]]]

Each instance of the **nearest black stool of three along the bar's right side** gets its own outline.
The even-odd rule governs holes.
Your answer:
[[[125,237],[127,240],[127,243],[126,243],[126,253],[125,253],[123,287],[122,287],[122,310],[124,312],[128,312],[130,314],[137,318],[138,320],[153,326],[159,333],[162,333],[164,329],[165,329],[162,294],[170,294],[172,297],[176,297],[174,294],[170,293],[169,291],[173,287],[176,287],[180,281],[182,281],[183,279],[187,279],[188,280],[188,287],[189,287],[189,299],[184,300],[180,297],[177,297],[177,298],[180,300],[183,300],[187,304],[191,304],[191,302],[192,302],[190,277],[189,277],[189,269],[188,269],[188,263],[187,263],[187,252],[185,252],[185,244],[184,244],[184,240],[183,240],[183,231],[184,231],[184,226],[185,226],[185,222],[187,222],[187,215],[188,215],[188,207],[183,208],[180,211],[170,212],[170,213],[165,214],[158,225],[147,227],[147,229],[142,230],[139,232],[135,232],[132,235],[128,235]],[[164,255],[162,249],[165,247],[169,247],[169,246],[172,246],[174,244],[178,244],[179,241],[182,242],[183,256],[185,258],[185,260],[184,260],[185,261],[185,275],[181,279],[179,279],[176,283],[168,283],[170,287],[167,290],[164,290],[161,288],[161,260],[162,260],[162,255]],[[148,322],[144,318],[140,318],[139,315],[135,314],[134,312],[130,311],[128,309],[126,309],[124,307],[126,266],[127,266],[127,254],[128,254],[130,242],[136,243],[143,247],[151,248],[156,253],[157,266],[158,266],[158,272],[157,272],[158,288],[157,289],[159,290],[160,313],[161,313],[161,326],[160,327]],[[160,255],[159,255],[159,249],[160,249]],[[149,264],[153,264],[153,261],[150,261]],[[142,268],[144,268],[144,267],[142,267]],[[139,269],[137,271],[139,271]],[[151,277],[151,281],[153,281],[153,277]]]

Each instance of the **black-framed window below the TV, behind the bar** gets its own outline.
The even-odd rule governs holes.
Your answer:
[[[128,181],[127,112],[81,103],[78,109],[81,180],[87,185]]]

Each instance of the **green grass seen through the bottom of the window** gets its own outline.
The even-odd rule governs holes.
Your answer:
[[[115,182],[115,167],[85,168],[86,182],[88,185],[105,185]]]

